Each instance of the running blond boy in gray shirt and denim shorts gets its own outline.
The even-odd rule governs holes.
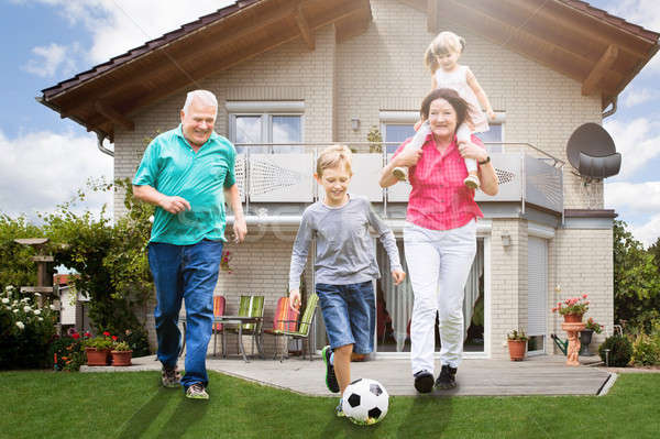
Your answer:
[[[321,152],[314,176],[326,190],[326,198],[302,213],[289,272],[289,303],[297,309],[300,274],[316,238],[316,292],[330,340],[322,350],[326,385],[340,394],[351,382],[351,353],[365,354],[374,349],[376,306],[372,282],[381,274],[370,226],[387,251],[395,284],[406,277],[392,230],[366,198],[346,193],[352,175],[348,146],[334,145]],[[344,416],[341,399],[336,413]]]

